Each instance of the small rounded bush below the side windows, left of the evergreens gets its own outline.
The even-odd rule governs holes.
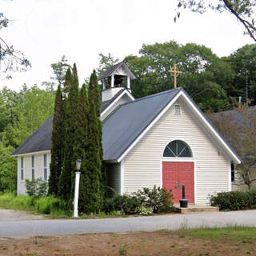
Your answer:
[[[26,193],[32,198],[45,197],[47,194],[47,182],[43,181],[42,178],[33,180],[26,179]]]

